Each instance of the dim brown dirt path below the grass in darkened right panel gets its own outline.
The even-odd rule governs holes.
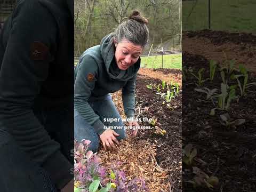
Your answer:
[[[209,33],[209,34],[207,34]],[[240,41],[238,41],[240,39]],[[202,55],[206,59],[234,59],[243,63],[249,70],[256,71],[256,37],[239,34],[215,33],[214,31],[197,31],[184,33],[182,51]]]

